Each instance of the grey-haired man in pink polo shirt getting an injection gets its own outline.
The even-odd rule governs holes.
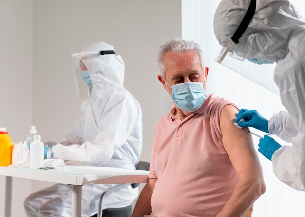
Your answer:
[[[207,94],[208,67],[192,41],[158,50],[159,81],[173,100],[154,134],[149,180],[132,217],[243,217],[265,192],[251,135],[238,108]]]

